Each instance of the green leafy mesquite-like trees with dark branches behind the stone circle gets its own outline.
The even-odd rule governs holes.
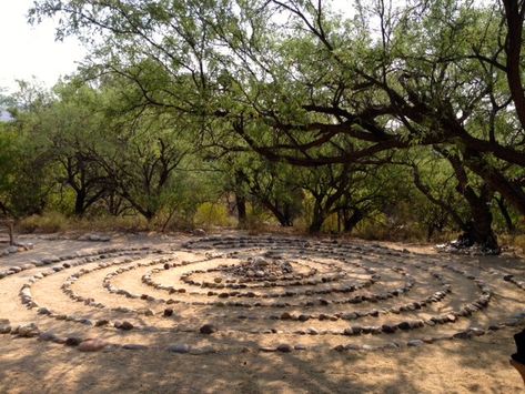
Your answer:
[[[524,12],[504,3],[355,1],[349,17],[311,1],[39,0],[31,20],[59,17],[59,37],[94,51],[70,82],[8,100],[0,202],[163,230],[236,212],[364,236],[516,231]]]

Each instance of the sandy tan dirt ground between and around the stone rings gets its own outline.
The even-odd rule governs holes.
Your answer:
[[[235,240],[242,234],[228,235],[223,244],[189,235],[113,234],[110,242],[78,241],[68,234],[22,236],[21,242],[31,242],[34,247],[0,257],[0,272],[53,256],[68,259],[27,266],[0,279],[0,322],[9,320],[12,330],[34,323],[39,333],[51,333],[57,339],[95,337],[108,345],[98,352],[84,353],[75,346],[57,343],[60,341],[44,341],[37,334],[33,337],[0,334],[0,393],[525,392],[519,375],[508,363],[515,352],[512,336],[525,327],[525,315],[516,317],[525,312],[525,290],[509,282],[508,276],[504,280],[505,275],[513,275],[518,284],[525,281],[523,260],[506,255],[452,256],[436,254],[430,245],[376,244],[360,240],[336,244],[302,239],[301,242],[307,244],[295,242],[287,247],[285,238],[279,235],[275,238],[284,241],[274,247],[274,241],[270,244],[258,241],[265,240],[264,236],[248,238],[238,244]],[[188,241],[193,242],[191,247],[185,247]],[[3,246],[0,244],[0,249]],[[129,251],[132,246],[150,250],[132,254]],[[121,255],[104,252],[108,247],[121,251]],[[266,252],[272,247],[281,256],[277,263],[290,261],[296,273],[314,270],[311,277],[344,275],[329,283],[303,285],[285,285],[287,279],[283,276],[277,277],[282,283],[276,287],[264,287],[263,279],[255,279],[246,282],[249,287],[254,285],[254,299],[234,299],[252,305],[259,302],[252,307],[229,304],[226,301],[233,295],[221,304],[219,294],[226,292],[225,289],[205,289],[188,282],[216,283],[215,277],[221,277],[222,284],[228,283],[226,280],[235,280],[235,276],[223,271],[224,265],[251,264],[258,256],[270,260]],[[153,253],[153,249],[159,249],[160,253]],[[297,252],[302,249],[307,253]],[[341,253],[331,254],[331,250]],[[238,253],[231,254],[235,251]],[[98,260],[82,260],[88,253]],[[64,262],[79,265],[64,267]],[[107,262],[107,266],[100,266],[101,262]],[[164,270],[166,262],[184,264]],[[44,277],[38,275],[50,272],[53,266],[62,269]],[[450,266],[464,272],[451,271]],[[352,294],[376,296],[403,287],[411,280],[413,285],[405,293],[385,300],[351,304],[343,302],[347,293],[331,292],[350,283],[365,283],[374,275],[367,269],[381,277]],[[190,271],[198,272],[189,274]],[[80,273],[78,280],[71,282],[71,275],[77,273]],[[435,274],[441,275],[441,280]],[[182,281],[181,275],[188,275],[186,281]],[[144,276],[151,277],[153,285],[144,283]],[[236,280],[231,283],[242,283]],[[80,301],[64,292],[62,285],[68,281],[74,296],[82,297]],[[113,291],[102,285],[104,281]],[[482,285],[476,281],[482,281]],[[20,291],[28,283],[38,306],[28,307],[21,302]],[[416,310],[385,312],[425,300],[440,292],[443,284],[448,284],[451,292],[441,300]],[[483,285],[491,291],[488,305],[453,322],[397,330],[392,334],[341,334],[353,325],[381,327],[453,314],[466,303],[478,300]],[[166,291],[170,286],[185,292],[170,294]],[[275,299],[271,294],[276,289],[295,293]],[[119,290],[138,297],[119,294]],[[315,293],[319,290],[330,292]],[[209,295],[210,291],[215,294]],[[314,293],[305,294],[305,291]],[[139,296],[142,294],[152,299],[143,300]],[[92,299],[88,300],[92,304],[82,302],[85,299]],[[176,302],[166,304],[168,299]],[[329,302],[323,303],[321,299]],[[307,304],[309,301],[313,303]],[[279,306],[275,302],[289,304]],[[103,307],[94,307],[93,303]],[[39,313],[40,307],[46,307],[50,315]],[[115,311],[119,307],[128,310]],[[166,317],[163,311],[168,307],[173,309],[173,315]],[[372,311],[381,313],[374,315]],[[283,320],[280,319],[283,312],[293,316],[307,314],[311,319],[307,322]],[[341,312],[361,312],[362,315],[351,322],[341,316],[329,319]],[[329,317],[320,319],[320,314]],[[68,319],[62,320],[60,315]],[[84,323],[74,321],[80,317]],[[110,323],[94,325],[103,320]],[[134,327],[115,329],[113,322],[117,321],[131,322]],[[199,329],[205,323],[216,326],[218,332],[201,334]],[[491,326],[494,330],[489,330]],[[479,329],[483,335],[451,339],[471,329]],[[411,341],[415,342],[408,345]],[[130,344],[140,348],[123,347]],[[275,351],[280,344],[287,344],[291,352]],[[191,351],[173,352],[176,345]]]

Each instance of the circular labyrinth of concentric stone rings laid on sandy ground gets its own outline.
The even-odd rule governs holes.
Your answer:
[[[453,259],[276,236],[105,247],[0,271],[18,293],[0,304],[0,333],[88,352],[352,352],[525,320],[508,296],[523,300],[524,279]]]

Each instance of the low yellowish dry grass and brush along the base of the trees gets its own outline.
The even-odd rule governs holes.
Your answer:
[[[17,231],[21,233],[57,233],[57,232],[148,232],[162,231],[165,220],[158,218],[148,222],[140,215],[127,216],[95,216],[89,219],[68,218],[58,212],[47,212],[42,215],[31,215],[22,219],[17,224]],[[181,220],[174,218],[166,231],[186,231],[193,228],[206,230],[232,229],[238,225],[236,219],[229,215],[225,209],[219,205],[203,204],[198,210],[193,220]],[[307,234],[307,225],[304,219],[299,219],[293,228],[282,228],[272,218],[262,215],[260,212],[249,211],[244,225],[249,234],[279,233],[287,235]],[[421,225],[388,225],[381,221],[364,221],[356,226],[351,234],[336,233],[334,230],[324,229],[320,236],[335,235],[357,238],[368,241],[390,241],[407,243],[428,243],[426,233]],[[436,233],[430,243],[442,243],[455,240],[457,233]],[[499,234],[499,243],[515,250],[516,253],[525,255],[525,234]]]

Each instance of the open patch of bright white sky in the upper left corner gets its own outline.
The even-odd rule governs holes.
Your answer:
[[[60,77],[72,73],[85,50],[74,38],[54,41],[52,20],[31,27],[27,13],[33,0],[0,0],[0,92],[17,90],[16,80],[33,77],[52,87]]]

